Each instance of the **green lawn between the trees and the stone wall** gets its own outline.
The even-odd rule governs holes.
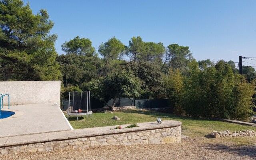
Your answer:
[[[121,120],[113,120],[113,116],[118,116]],[[70,124],[74,129],[92,128],[102,126],[118,126],[121,124],[134,124],[140,122],[153,122],[160,117],[162,120],[178,120],[182,122],[182,135],[190,137],[202,137],[208,135],[212,130],[216,131],[237,131],[237,130],[255,130],[253,126],[244,126],[240,124],[232,124],[228,122],[220,122],[216,120],[205,120],[200,118],[192,118],[188,116],[178,116],[174,114],[166,114],[144,110],[124,110],[122,112],[111,113],[93,113],[92,118],[70,117]]]

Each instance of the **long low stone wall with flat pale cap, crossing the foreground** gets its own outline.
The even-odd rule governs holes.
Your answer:
[[[182,122],[174,120],[138,123],[139,127],[114,130],[116,126],[0,138],[0,154],[90,148],[106,145],[164,144],[181,142]]]

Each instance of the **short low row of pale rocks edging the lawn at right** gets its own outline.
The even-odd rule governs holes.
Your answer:
[[[214,138],[220,138],[220,137],[244,137],[244,136],[250,136],[254,137],[255,132],[254,130],[245,130],[245,131],[235,131],[235,132],[230,132],[230,130],[226,130],[224,132],[217,132],[213,131],[210,133]]]

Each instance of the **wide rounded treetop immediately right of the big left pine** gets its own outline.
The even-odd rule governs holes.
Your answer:
[[[76,54],[77,56],[83,55],[87,57],[95,55],[95,48],[92,47],[92,42],[88,38],[80,39],[79,36],[76,36],[73,40],[64,42],[61,47],[66,54]]]

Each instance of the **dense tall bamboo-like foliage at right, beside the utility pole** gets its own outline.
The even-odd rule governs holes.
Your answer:
[[[251,100],[255,82],[248,83],[244,76],[234,74],[230,64],[220,60],[214,66],[199,70],[193,60],[188,67],[188,76],[183,78],[182,101],[187,114],[244,120],[253,113]]]

